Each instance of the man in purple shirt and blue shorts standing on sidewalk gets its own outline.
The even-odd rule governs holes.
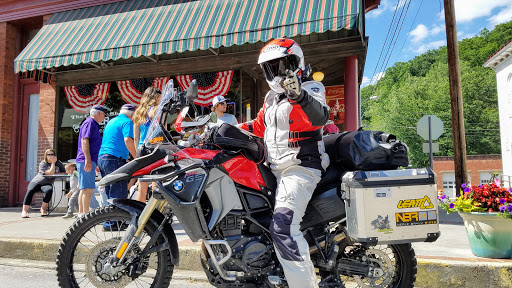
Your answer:
[[[95,188],[96,166],[101,147],[100,124],[105,119],[107,108],[94,105],[89,112],[90,117],[80,126],[78,134],[78,152],[76,168],[78,169],[79,216],[89,211],[92,192]]]

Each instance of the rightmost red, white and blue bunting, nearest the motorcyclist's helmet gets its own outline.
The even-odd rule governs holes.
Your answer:
[[[183,90],[188,89],[192,80],[197,80],[199,98],[194,103],[200,106],[210,105],[215,96],[226,95],[229,91],[229,86],[231,86],[232,78],[233,70],[176,76],[176,80]]]

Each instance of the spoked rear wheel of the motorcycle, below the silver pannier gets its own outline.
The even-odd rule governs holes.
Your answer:
[[[340,275],[343,284],[332,287],[414,287],[417,261],[411,244],[370,247],[366,250],[363,258],[370,266],[369,277]],[[324,273],[322,276],[328,277],[329,275]]]

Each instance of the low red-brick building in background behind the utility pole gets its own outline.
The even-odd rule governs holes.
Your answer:
[[[468,181],[471,185],[485,184],[491,172],[502,173],[501,155],[468,155]],[[437,175],[437,189],[443,194],[455,197],[455,172],[452,156],[434,157],[434,172]]]

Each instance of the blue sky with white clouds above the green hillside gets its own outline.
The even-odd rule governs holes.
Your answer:
[[[410,2],[410,5],[408,4]],[[446,33],[444,25],[443,0],[381,0],[378,9],[366,14],[366,35],[370,38],[368,54],[364,69],[364,78],[361,87],[370,82],[375,84],[384,75],[387,67],[396,62],[406,62],[428,50],[446,45]],[[384,49],[380,63],[377,66],[379,55],[383,50],[395,8],[399,5],[403,9],[405,20],[394,48]],[[399,6],[395,15],[395,22],[402,9]],[[459,40],[477,35],[480,30],[487,28],[492,30],[496,24],[512,20],[512,0],[455,0],[455,14],[457,18],[457,34]],[[417,16],[416,16],[417,15]],[[416,19],[415,19],[416,16]],[[400,26],[398,26],[398,29]],[[398,33],[398,29],[396,32]],[[393,36],[393,28],[388,36],[390,42]],[[391,43],[391,46],[393,43]],[[386,46],[388,44],[386,43]],[[384,55],[389,55],[384,61]],[[387,65],[386,65],[387,62]]]

